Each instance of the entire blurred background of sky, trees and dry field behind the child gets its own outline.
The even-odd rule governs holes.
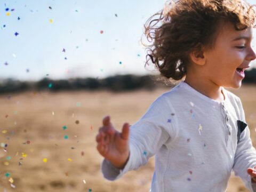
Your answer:
[[[143,25],[164,3],[1,1],[0,191],[149,191],[154,158],[107,181],[95,136],[104,116],[120,130],[171,89],[145,69],[140,43]],[[230,91],[243,102],[256,146],[251,66],[241,89]],[[231,191],[248,191],[233,173]]]

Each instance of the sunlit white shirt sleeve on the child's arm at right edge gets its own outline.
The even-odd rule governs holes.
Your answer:
[[[239,111],[242,111],[241,118],[239,119],[245,122],[244,109],[242,106],[242,102],[239,99],[238,102]],[[240,135],[240,140],[237,143],[235,160],[234,160],[234,172],[235,175],[240,177],[247,188],[250,189],[251,192],[256,192],[256,183],[251,182],[251,176],[247,173],[247,169],[249,167],[253,168],[256,166],[256,151],[252,146],[252,141],[250,138],[250,129],[246,126],[245,130]]]

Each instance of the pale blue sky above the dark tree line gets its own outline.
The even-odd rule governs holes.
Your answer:
[[[44,77],[149,74],[140,39],[143,25],[164,3],[165,0],[1,1],[0,79],[38,81]]]

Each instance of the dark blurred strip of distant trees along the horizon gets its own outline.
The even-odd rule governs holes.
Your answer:
[[[243,83],[256,83],[256,68],[245,71]],[[75,90],[111,90],[131,91],[137,89],[153,90],[155,87],[167,86],[156,81],[155,76],[116,75],[104,79],[97,78],[74,78],[52,80],[43,78],[38,82],[20,82],[14,79],[5,79],[0,82],[1,93],[14,93],[27,90],[35,91],[75,91]],[[169,85],[170,86],[170,85]]]

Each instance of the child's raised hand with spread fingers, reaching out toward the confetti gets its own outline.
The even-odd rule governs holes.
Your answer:
[[[110,123],[110,117],[106,116],[96,141],[99,153],[115,167],[123,169],[129,157],[129,124],[124,123],[120,133]]]

